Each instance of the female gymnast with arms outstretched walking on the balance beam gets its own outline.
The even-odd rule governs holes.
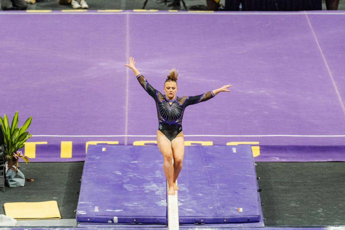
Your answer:
[[[207,101],[219,92],[230,92],[227,88],[232,85],[228,84],[197,96],[177,97],[175,94],[178,72],[171,69],[168,78],[164,82],[164,92],[166,94],[162,94],[147,82],[134,65],[134,58],[130,57],[129,64],[125,66],[134,71],[141,86],[156,102],[158,116],[157,146],[164,157],[163,168],[168,181],[168,194],[175,195],[175,190],[178,190],[176,180],[182,169],[182,160],[185,153],[182,132],[182,118],[185,108],[191,104]],[[174,164],[172,164],[172,159],[174,159]]]

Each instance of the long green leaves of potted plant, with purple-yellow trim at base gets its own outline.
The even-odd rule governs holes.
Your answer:
[[[23,156],[22,152],[18,151],[18,149],[23,148],[24,142],[32,136],[32,134],[26,132],[31,124],[31,120],[32,116],[26,120],[23,126],[17,128],[18,111],[14,114],[11,127],[9,126],[6,114],[4,114],[3,119],[0,116],[1,130],[4,138],[5,161],[7,161],[8,166],[13,166],[15,163],[18,165],[19,158],[22,158],[26,163],[29,162],[29,158]]]

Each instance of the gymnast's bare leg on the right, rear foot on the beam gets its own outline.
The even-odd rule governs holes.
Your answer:
[[[183,155],[185,154],[185,140],[183,133],[180,132],[174,140],[171,141],[172,157],[174,158],[174,190],[178,190],[176,180],[182,169]]]

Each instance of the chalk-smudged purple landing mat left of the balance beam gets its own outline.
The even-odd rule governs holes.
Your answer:
[[[83,168],[77,221],[165,226],[166,179],[159,150],[91,146]]]

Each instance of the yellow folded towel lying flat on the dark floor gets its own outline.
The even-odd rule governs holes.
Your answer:
[[[6,216],[17,220],[61,219],[58,203],[55,200],[5,203],[3,206]]]

